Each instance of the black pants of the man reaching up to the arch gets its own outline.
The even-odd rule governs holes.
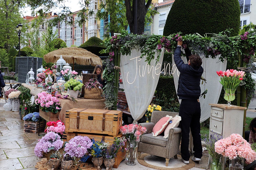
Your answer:
[[[202,144],[200,135],[200,116],[201,108],[200,103],[197,100],[182,99],[179,107],[179,116],[181,116],[181,156],[182,159],[188,161],[190,158],[189,154],[189,132],[193,137],[194,156],[196,158],[202,157]]]

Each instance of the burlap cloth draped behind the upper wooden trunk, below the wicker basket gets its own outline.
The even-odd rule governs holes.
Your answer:
[[[105,99],[93,100],[93,99],[77,99],[77,102],[73,102],[68,99],[59,99],[61,111],[59,114],[59,119],[61,122],[65,123],[66,111],[73,108],[85,108],[85,109],[106,109],[104,101]]]

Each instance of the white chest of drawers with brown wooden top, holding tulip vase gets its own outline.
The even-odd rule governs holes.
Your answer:
[[[210,132],[217,133],[222,138],[227,138],[233,133],[243,135],[243,116],[246,107],[227,106],[227,104],[209,104],[211,106]],[[221,157],[222,169],[225,167],[226,158]]]

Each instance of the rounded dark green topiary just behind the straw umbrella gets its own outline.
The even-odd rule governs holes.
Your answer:
[[[102,49],[106,49],[103,45],[103,41],[97,37],[91,37],[85,43],[79,46],[79,48],[86,49],[97,56],[108,56],[109,54],[100,54]]]

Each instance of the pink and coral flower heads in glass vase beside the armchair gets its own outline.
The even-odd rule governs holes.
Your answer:
[[[141,135],[146,131],[147,129],[141,125],[129,124],[120,127],[120,132],[125,135],[128,141],[135,140],[139,142]]]

